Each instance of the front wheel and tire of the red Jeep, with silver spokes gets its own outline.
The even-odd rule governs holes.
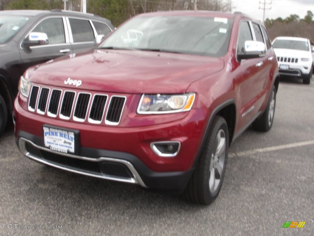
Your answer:
[[[218,196],[225,176],[229,133],[225,119],[215,116],[198,164],[184,195],[194,203],[209,205]]]

